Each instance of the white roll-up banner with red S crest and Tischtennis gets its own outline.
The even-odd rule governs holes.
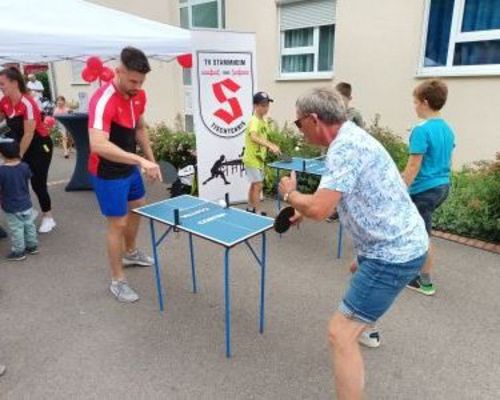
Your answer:
[[[200,197],[218,200],[229,193],[231,202],[246,201],[249,183],[242,156],[256,87],[255,37],[210,31],[203,32],[203,40],[193,41],[193,115]]]

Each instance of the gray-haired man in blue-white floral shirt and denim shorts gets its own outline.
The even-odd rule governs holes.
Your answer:
[[[357,270],[329,324],[337,399],[363,395],[364,367],[358,338],[390,308],[418,274],[429,246],[424,221],[394,162],[370,134],[346,122],[336,91],[314,89],[297,100],[295,124],[305,139],[327,146],[328,173],[316,193],[297,191],[292,173],[279,191],[303,217],[322,221],[337,208],[352,234]]]

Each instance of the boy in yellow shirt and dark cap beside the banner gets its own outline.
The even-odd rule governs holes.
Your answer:
[[[267,139],[269,123],[264,117],[269,112],[269,103],[272,102],[273,99],[269,98],[266,92],[257,92],[254,94],[253,115],[245,131],[243,164],[245,165],[246,174],[250,182],[247,211],[254,213],[257,212],[260,203],[267,150],[269,149],[275,154],[280,153],[280,148]]]

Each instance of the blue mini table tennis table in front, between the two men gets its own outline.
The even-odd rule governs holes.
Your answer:
[[[227,200],[227,199],[226,199]],[[193,235],[224,247],[224,303],[226,356],[231,357],[231,295],[229,287],[229,253],[240,243],[245,243],[260,266],[260,319],[259,332],[264,332],[264,289],[266,278],[266,231],[273,228],[273,219],[249,213],[233,207],[198,197],[183,195],[159,201],[133,210],[149,219],[151,243],[154,255],[154,271],[160,311],[163,311],[163,288],[161,283],[158,246],[171,231],[184,231],[189,238],[193,293],[196,293],[196,267]],[[157,239],[155,222],[167,225],[165,232]],[[261,236],[260,256],[249,239]]]

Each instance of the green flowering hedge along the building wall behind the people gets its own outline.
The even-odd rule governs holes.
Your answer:
[[[151,129],[153,151],[159,160],[168,160],[177,168],[196,163],[196,139],[193,133],[176,131],[165,125]],[[390,128],[380,125],[376,115],[368,131],[387,149],[398,169],[402,171],[408,161],[408,146]],[[292,156],[317,157],[322,150],[304,143],[302,135],[286,124],[280,128],[271,122],[269,139]],[[323,150],[324,151],[324,150]],[[268,152],[266,163],[277,157]],[[318,178],[303,176],[300,189],[312,193]],[[266,167],[264,191],[273,195],[276,189],[276,171]],[[453,173],[452,188],[447,201],[434,215],[434,228],[492,242],[500,242],[500,153],[495,161],[478,162],[472,167]]]

